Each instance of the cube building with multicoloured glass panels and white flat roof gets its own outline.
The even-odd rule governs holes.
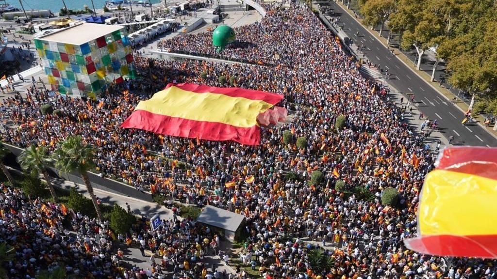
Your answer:
[[[34,40],[52,90],[95,99],[111,83],[135,78],[125,27],[81,23]]]

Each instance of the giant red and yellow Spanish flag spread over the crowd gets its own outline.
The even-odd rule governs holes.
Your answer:
[[[256,145],[260,140],[257,116],[282,99],[282,95],[257,90],[170,83],[141,101],[121,128]]]

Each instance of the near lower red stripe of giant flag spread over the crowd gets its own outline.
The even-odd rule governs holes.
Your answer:
[[[235,127],[218,122],[195,121],[184,118],[154,114],[145,110],[135,110],[121,128],[135,128],[169,135],[207,140],[234,140],[246,145],[257,145],[260,141],[260,130],[254,125],[249,128]]]

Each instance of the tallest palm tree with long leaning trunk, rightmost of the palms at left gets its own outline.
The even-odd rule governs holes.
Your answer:
[[[88,194],[90,194],[93,201],[93,206],[95,206],[96,215],[101,221],[102,213],[88,178],[88,171],[95,166],[93,153],[93,147],[85,144],[81,136],[68,136],[63,142],[59,142],[57,149],[54,151],[55,168],[65,173],[77,171],[81,175],[84,185],[86,185],[86,190],[88,190]]]

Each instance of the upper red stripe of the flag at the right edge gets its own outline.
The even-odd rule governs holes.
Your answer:
[[[476,146],[445,148],[436,168],[497,180],[497,148]]]

